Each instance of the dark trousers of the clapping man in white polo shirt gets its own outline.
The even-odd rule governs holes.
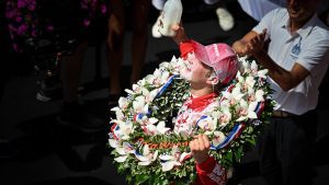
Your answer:
[[[272,117],[259,142],[260,172],[269,185],[311,185],[317,113]]]

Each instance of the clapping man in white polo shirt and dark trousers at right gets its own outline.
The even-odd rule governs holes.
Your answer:
[[[232,48],[269,69],[276,102],[259,142],[260,171],[268,184],[313,184],[318,88],[329,62],[329,31],[316,14],[320,0],[287,0],[269,12]],[[268,47],[265,47],[268,46]]]

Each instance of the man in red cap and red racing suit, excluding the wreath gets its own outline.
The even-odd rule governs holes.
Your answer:
[[[204,113],[219,106],[215,97],[218,96],[219,90],[236,77],[239,65],[230,46],[224,43],[203,46],[188,39],[182,27],[174,30],[177,35],[173,39],[179,43],[181,57],[186,60],[186,67],[181,71],[181,76],[190,83],[191,94],[174,120],[174,132],[191,136],[195,125],[211,126],[206,124]],[[227,169],[208,155],[211,142],[207,136],[194,136],[189,147],[196,163],[195,184],[226,184]]]

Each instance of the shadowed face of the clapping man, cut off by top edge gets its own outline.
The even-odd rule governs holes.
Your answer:
[[[286,0],[286,8],[292,21],[305,22],[316,10],[318,0]]]

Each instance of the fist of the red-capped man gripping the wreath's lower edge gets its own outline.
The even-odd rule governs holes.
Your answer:
[[[209,158],[209,148],[211,142],[205,135],[197,135],[190,141],[190,149],[197,164],[203,163]]]

